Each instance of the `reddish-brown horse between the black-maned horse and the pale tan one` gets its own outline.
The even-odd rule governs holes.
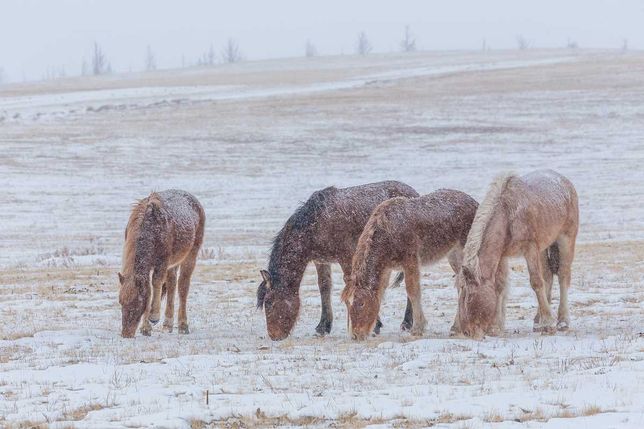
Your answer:
[[[422,335],[420,267],[447,256],[457,272],[478,203],[469,195],[440,189],[418,198],[392,198],[373,212],[353,256],[349,286],[342,300],[349,313],[349,333],[362,340],[371,332],[393,269],[405,274],[411,301],[411,332]],[[452,329],[458,329],[457,322]]]

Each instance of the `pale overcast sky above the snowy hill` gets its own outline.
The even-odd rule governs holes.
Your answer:
[[[115,71],[141,70],[147,45],[168,68],[229,37],[249,60],[303,55],[307,38],[351,54],[361,30],[387,52],[406,24],[420,49],[514,48],[519,34],[536,47],[644,48],[642,0],[0,0],[0,68],[11,81],[76,75],[93,41]]]

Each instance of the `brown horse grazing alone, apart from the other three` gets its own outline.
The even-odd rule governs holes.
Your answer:
[[[179,333],[187,334],[186,304],[190,277],[203,241],[206,215],[184,191],[153,192],[134,205],[125,229],[123,269],[119,273],[122,332],[132,338],[143,316],[141,333],[150,335],[167,293],[163,327],[172,332],[179,272]]]

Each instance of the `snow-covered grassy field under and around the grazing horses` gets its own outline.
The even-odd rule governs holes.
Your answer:
[[[498,173],[538,168],[580,198],[569,332],[532,332],[517,259],[502,337],[448,336],[442,262],[424,270],[423,338],[400,333],[398,288],[382,334],[351,341],[339,268],[331,335],[313,335],[309,270],[293,334],[267,338],[259,269],[313,191],[396,179],[480,201]],[[192,333],[124,340],[130,206],[171,187],[208,216]],[[321,57],[4,86],[0,189],[0,427],[644,427],[644,54]]]

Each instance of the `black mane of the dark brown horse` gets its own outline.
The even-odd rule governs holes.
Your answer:
[[[279,275],[279,267],[283,263],[285,252],[291,248],[286,246],[287,240],[292,238],[302,239],[308,228],[320,218],[324,208],[329,202],[331,194],[335,193],[337,188],[329,186],[313,192],[308,200],[300,204],[295,212],[288,218],[282,229],[273,238],[271,246],[271,256],[268,263],[268,272],[275,281]],[[300,246],[303,243],[298,243]]]

